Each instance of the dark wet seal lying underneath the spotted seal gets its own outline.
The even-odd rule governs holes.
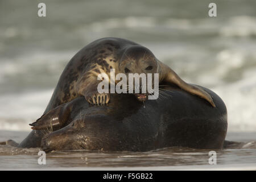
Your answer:
[[[215,108],[171,85],[163,88],[158,100],[148,100],[145,107],[132,94],[112,94],[109,105],[100,107],[78,97],[31,125],[36,131],[52,130],[42,139],[42,149],[47,152],[222,148],[228,126],[225,104],[209,89],[199,87],[213,97]]]

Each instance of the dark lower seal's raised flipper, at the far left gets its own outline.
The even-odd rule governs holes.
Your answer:
[[[71,113],[71,106],[69,104],[62,104],[55,109],[50,110],[48,113],[42,115],[30,126],[33,130],[42,130],[50,128],[53,131],[60,129],[65,125]]]

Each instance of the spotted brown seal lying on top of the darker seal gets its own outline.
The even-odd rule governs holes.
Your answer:
[[[212,97],[205,90],[181,80],[146,47],[125,39],[102,38],[88,44],[72,57],[61,74],[44,113],[79,96],[84,96],[90,104],[108,104],[110,94],[98,92],[97,85],[101,80],[97,80],[97,77],[98,74],[105,73],[110,78],[110,69],[115,69],[115,73],[126,75],[159,73],[159,82],[175,84],[215,106]],[[139,101],[145,101],[148,93],[134,95]]]

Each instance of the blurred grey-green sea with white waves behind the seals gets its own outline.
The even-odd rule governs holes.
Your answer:
[[[108,36],[148,47],[185,81],[216,92],[228,132],[256,131],[255,0],[1,0],[0,130],[31,130],[71,57]]]

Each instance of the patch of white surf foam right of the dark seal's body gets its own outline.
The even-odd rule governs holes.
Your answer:
[[[212,90],[226,104],[228,131],[256,130],[256,74],[246,76],[232,84],[216,86]]]

